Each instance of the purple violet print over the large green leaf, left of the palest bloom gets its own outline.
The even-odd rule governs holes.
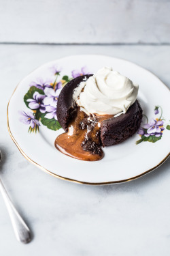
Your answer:
[[[48,88],[50,89],[50,88]],[[28,99],[30,109],[39,109],[41,113],[46,112],[46,106],[43,104],[43,100],[46,98],[45,95],[39,94],[37,91],[33,94],[33,99]]]

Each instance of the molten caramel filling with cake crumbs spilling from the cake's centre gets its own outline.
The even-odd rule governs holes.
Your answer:
[[[60,134],[55,140],[57,150],[84,161],[97,161],[103,158],[101,150],[100,124],[101,121],[114,117],[114,115],[94,115],[88,117],[78,108],[77,115],[71,120],[68,132]]]

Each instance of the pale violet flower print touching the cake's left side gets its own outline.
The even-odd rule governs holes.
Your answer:
[[[56,107],[56,102],[58,100],[61,89],[57,89],[56,91],[54,91],[54,89],[46,88],[44,92],[46,94],[46,98],[44,98],[44,104],[46,106],[50,105]]]

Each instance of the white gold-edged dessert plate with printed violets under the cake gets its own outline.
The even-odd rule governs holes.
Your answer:
[[[57,98],[70,79],[103,66],[112,66],[139,84],[141,128],[123,143],[105,147],[100,161],[76,160],[54,147],[63,132],[56,120]],[[169,96],[169,89],[154,74],[135,63],[103,55],[75,55],[46,63],[20,81],[7,106],[7,126],[22,155],[55,177],[93,185],[126,182],[149,173],[168,158]]]

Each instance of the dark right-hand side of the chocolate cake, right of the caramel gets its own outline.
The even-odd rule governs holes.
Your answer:
[[[142,109],[136,100],[125,114],[104,120],[101,123],[101,143],[103,147],[122,143],[133,136],[139,129],[141,118]]]

